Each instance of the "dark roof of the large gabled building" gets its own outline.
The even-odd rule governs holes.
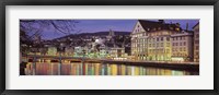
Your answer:
[[[177,25],[177,23],[164,23],[163,20],[160,20],[159,22],[155,21],[147,21],[147,20],[138,20],[139,23],[141,24],[141,26],[143,27],[143,29],[148,31],[148,28],[152,29],[152,28],[158,28],[161,27],[161,29],[172,29],[175,27],[180,27],[180,24]],[[180,31],[182,31],[182,28],[180,27]]]

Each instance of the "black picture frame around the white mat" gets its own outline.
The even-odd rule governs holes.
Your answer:
[[[214,90],[5,90],[5,7],[7,5],[214,5],[214,48],[217,48],[217,32],[219,31],[219,1],[218,0],[8,0],[1,1],[1,17],[0,17],[0,91],[1,95],[72,95],[72,94],[138,94],[138,95],[218,95],[218,59],[217,49],[214,50]]]

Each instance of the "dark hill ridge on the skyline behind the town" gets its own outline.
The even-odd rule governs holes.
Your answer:
[[[81,34],[70,34],[67,36],[62,36],[59,38],[55,38],[55,39],[62,39],[62,38],[78,38],[78,37],[85,37],[85,36],[107,36],[110,32],[95,32],[95,33],[81,33]],[[131,32],[118,32],[118,31],[114,31],[115,35],[130,35]]]

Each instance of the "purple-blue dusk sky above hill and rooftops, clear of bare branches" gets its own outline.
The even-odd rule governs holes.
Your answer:
[[[71,34],[79,33],[94,33],[94,32],[106,32],[110,29],[131,32],[137,20],[77,20],[79,23],[76,24],[76,32]],[[152,20],[158,21],[158,20]],[[164,20],[165,23],[180,23],[183,29],[186,28],[186,23],[188,23],[188,29],[199,22],[199,20]],[[47,28],[43,32],[44,39],[53,39],[57,37],[65,36],[65,34],[55,32],[54,28]]]

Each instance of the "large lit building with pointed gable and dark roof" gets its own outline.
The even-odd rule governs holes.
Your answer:
[[[178,23],[138,20],[131,33],[131,56],[136,60],[171,60],[171,35],[181,31]]]

